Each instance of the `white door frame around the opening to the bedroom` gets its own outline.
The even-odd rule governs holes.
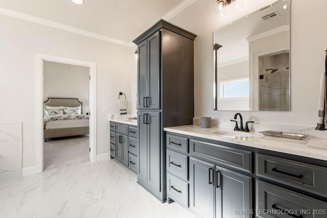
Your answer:
[[[35,152],[36,173],[43,172],[43,61],[89,67],[90,161],[97,161],[97,64],[73,58],[36,53],[35,62]]]

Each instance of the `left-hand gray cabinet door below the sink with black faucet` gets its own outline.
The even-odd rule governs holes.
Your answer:
[[[190,158],[190,210],[200,217],[214,217],[214,175],[214,164]]]

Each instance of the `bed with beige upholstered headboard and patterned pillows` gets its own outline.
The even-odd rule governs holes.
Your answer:
[[[78,99],[48,98],[48,100],[43,102],[43,108],[43,138],[45,142],[49,138],[89,134],[89,116],[81,114],[82,102],[78,101]],[[58,112],[61,108],[62,114],[49,113],[53,111]],[[78,111],[77,108],[80,108],[79,114],[68,113],[72,112],[72,110],[74,112]]]

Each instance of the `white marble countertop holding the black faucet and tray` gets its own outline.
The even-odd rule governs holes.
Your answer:
[[[303,139],[280,138],[265,136],[259,132],[233,131],[214,127],[205,129],[197,125],[166,127],[164,130],[327,161],[327,140],[314,136]]]

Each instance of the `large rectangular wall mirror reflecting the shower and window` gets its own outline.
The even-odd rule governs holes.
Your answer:
[[[290,0],[214,31],[214,110],[290,110]]]

